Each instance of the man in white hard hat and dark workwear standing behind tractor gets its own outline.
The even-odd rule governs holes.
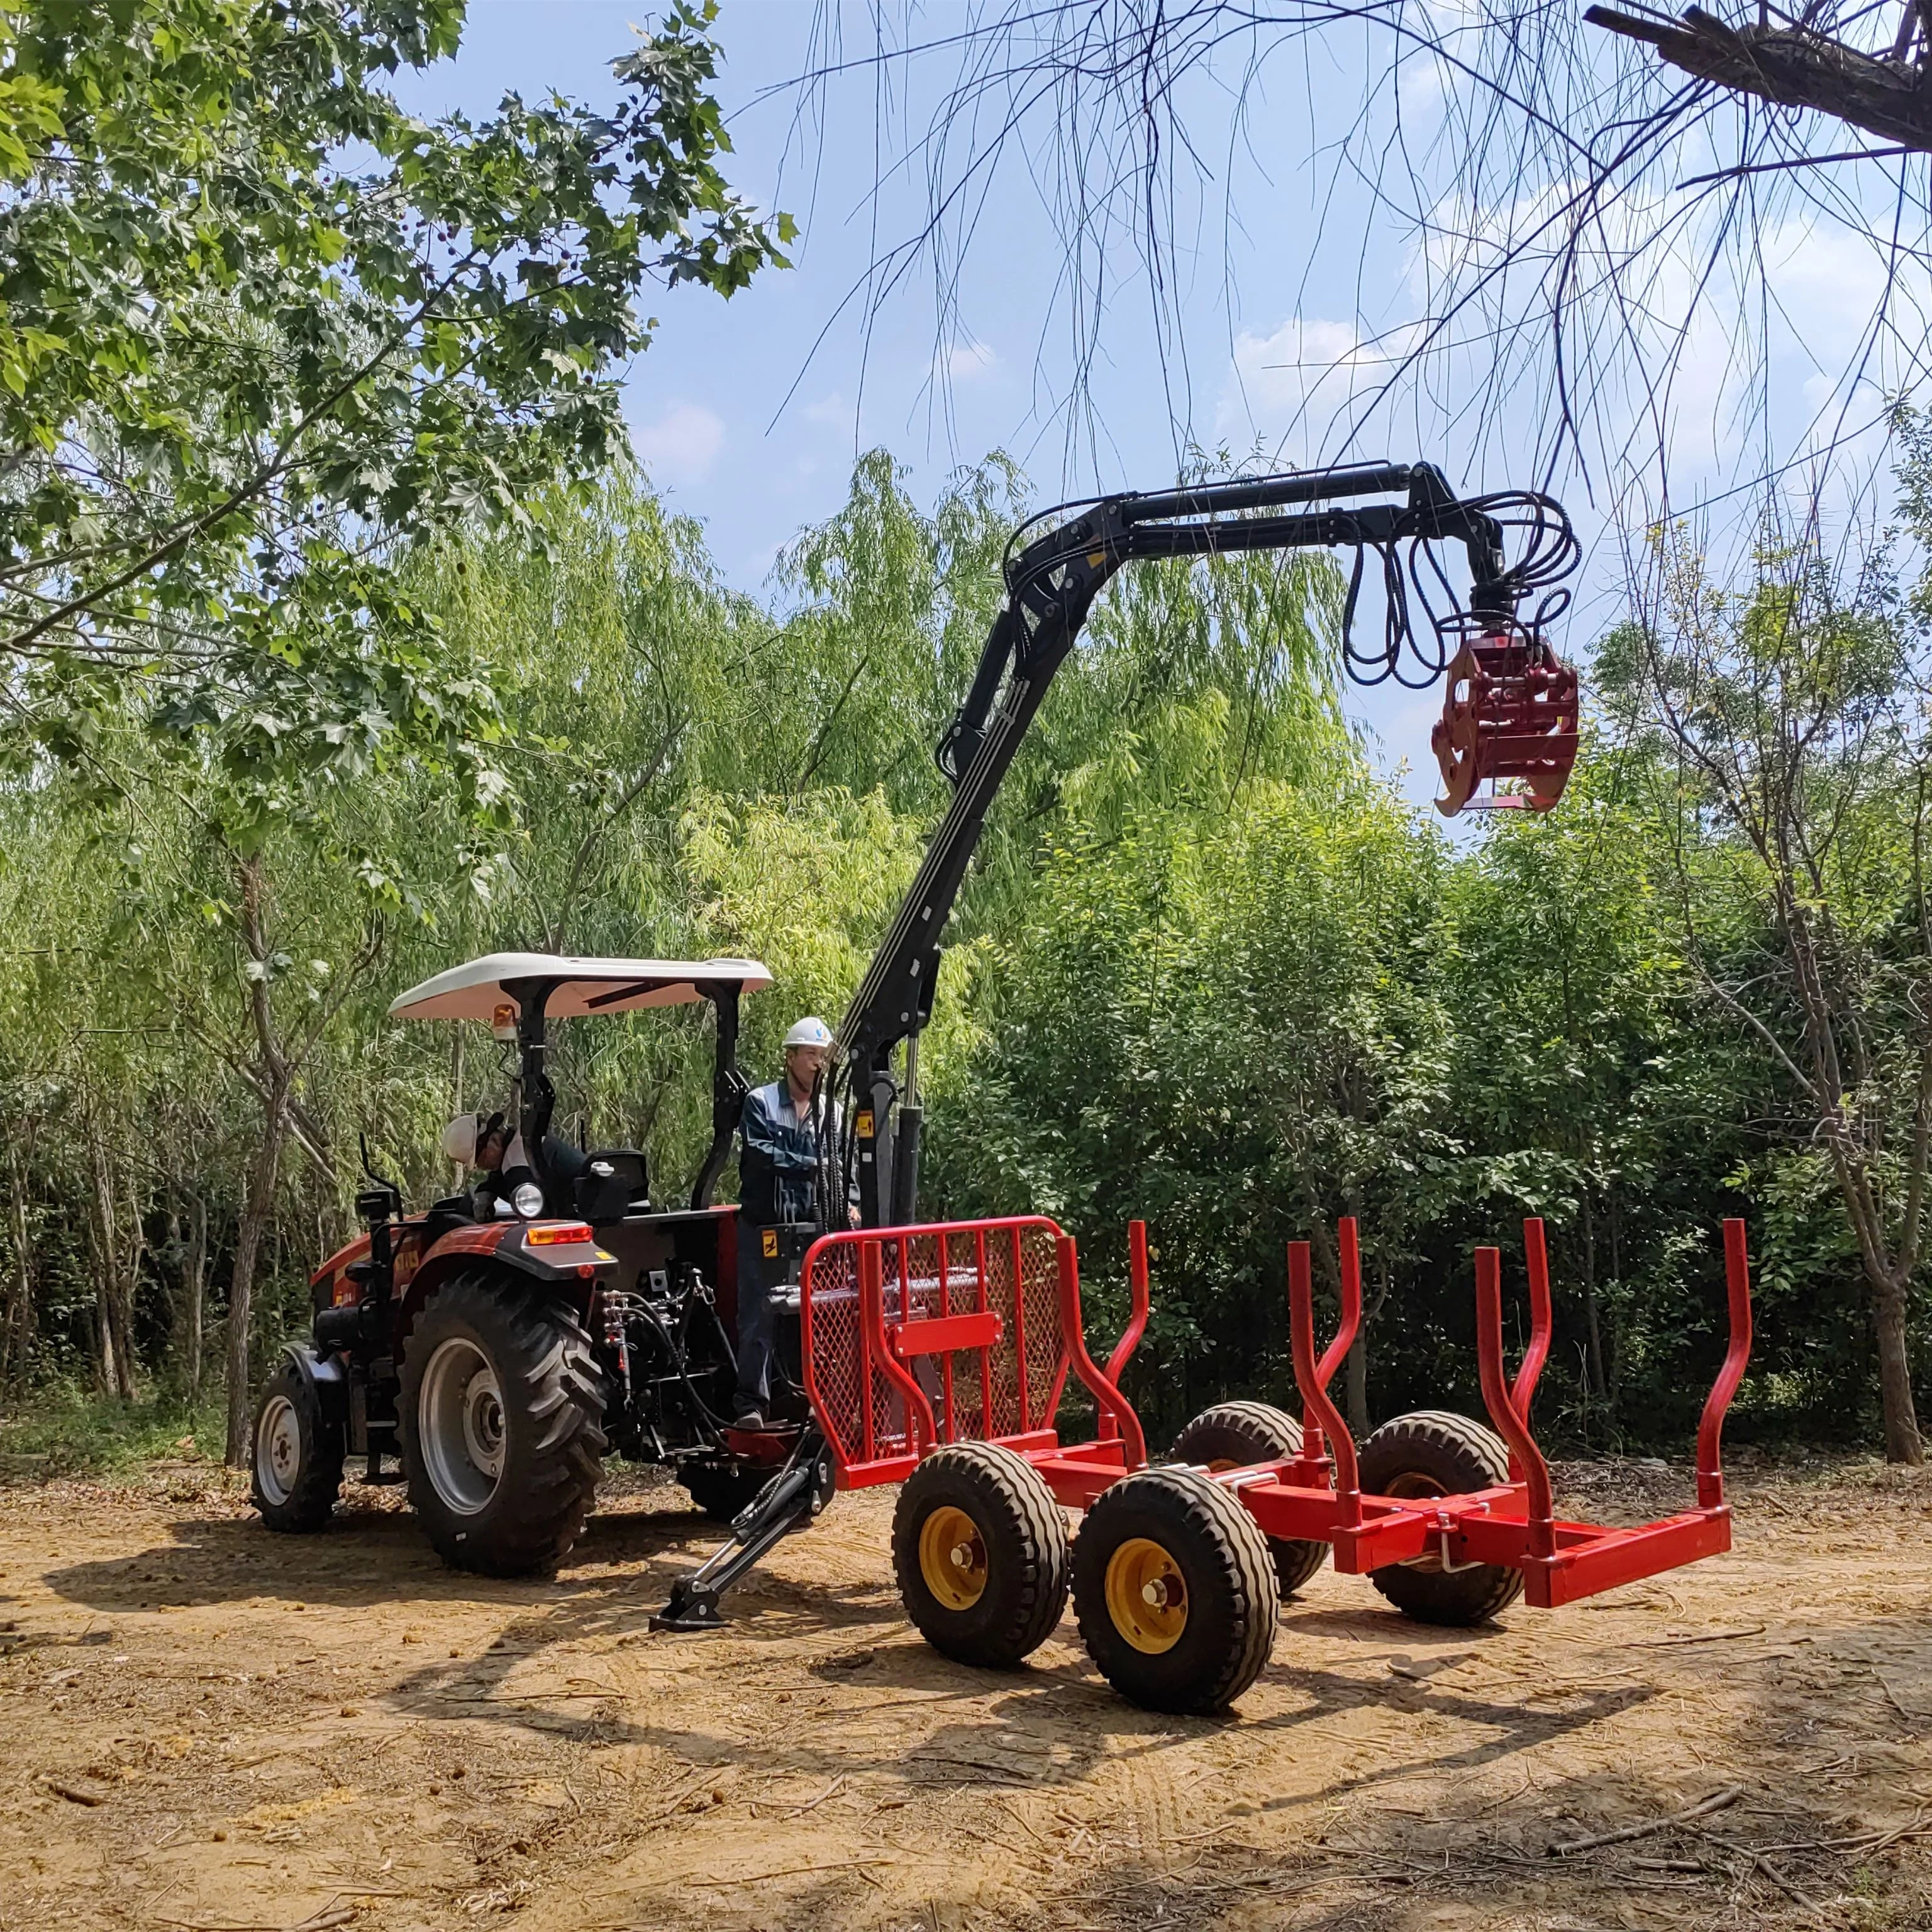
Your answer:
[[[790,1262],[786,1223],[811,1223],[819,1211],[819,1122],[829,1101],[813,1103],[819,1074],[833,1051],[823,1020],[800,1020],[784,1036],[784,1078],[746,1095],[738,1130],[738,1399],[736,1424],[765,1428],[777,1316],[771,1291]],[[838,1111],[831,1111],[838,1134]]]

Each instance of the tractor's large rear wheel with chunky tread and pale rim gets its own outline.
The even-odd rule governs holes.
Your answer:
[[[554,1569],[603,1470],[605,1378],[576,1310],[491,1273],[440,1287],[402,1362],[410,1507],[444,1563]]]

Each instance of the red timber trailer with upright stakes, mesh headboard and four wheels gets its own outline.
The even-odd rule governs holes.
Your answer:
[[[1300,1420],[1225,1403],[1150,1463],[1121,1374],[1148,1321],[1148,1236],[1128,1227],[1132,1316],[1101,1368],[1080,1316],[1072,1236],[1022,1215],[821,1236],[800,1283],[804,1374],[837,1484],[902,1484],[893,1559],[906,1611],[966,1663],[1010,1665],[1068,1590],[1101,1673],[1136,1704],[1208,1712],[1260,1675],[1281,1596],[1333,1555],[1403,1613],[1476,1623],[1540,1609],[1731,1548],[1719,1437],[1750,1354],[1743,1221],[1723,1223],[1729,1349],[1696,1439],[1696,1507],[1633,1528],[1565,1522],[1530,1430],[1549,1354],[1549,1265],[1524,1223],[1530,1343],[1503,1364],[1501,1256],[1476,1250],[1476,1350],[1490,1426],[1426,1410],[1364,1443],[1329,1399],[1362,1318],[1354,1221],[1341,1323],[1316,1354],[1308,1242],[1289,1246]],[[1094,1435],[1063,1443],[1072,1385]],[[1068,1538],[1063,1509],[1082,1511]]]

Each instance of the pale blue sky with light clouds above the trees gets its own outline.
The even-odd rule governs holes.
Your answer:
[[[896,10],[908,12],[927,37],[968,17],[951,0]],[[639,17],[628,0],[471,0],[456,60],[406,77],[402,93],[425,114],[487,114],[510,89],[527,97],[556,89],[595,104],[611,99],[609,66]],[[983,197],[980,216],[947,272],[914,259],[881,294],[871,265],[918,232],[927,184],[947,164],[929,147],[908,147],[908,133],[929,124],[956,68],[846,71],[800,118],[800,97],[786,83],[813,58],[850,62],[867,52],[866,8],[846,10],[846,44],[815,41],[815,19],[810,0],[724,0],[715,25],[724,50],[719,95],[736,149],[728,178],[761,207],[800,220],[794,267],[757,276],[730,301],[692,288],[667,292],[655,305],[655,344],[626,386],[638,454],[670,504],[701,520],[734,585],[765,589],[781,547],[840,504],[854,454],[877,444],[904,464],[925,504],[956,466],[991,450],[1018,458],[1037,500],[1051,502],[1094,489],[1163,487],[1190,442],[1225,446],[1235,458],[1264,450],[1289,466],[1323,454],[1435,460],[1468,491],[1540,481],[1549,419],[1546,384],[1528,367],[1534,344],[1476,342],[1437,371],[1434,386],[1395,398],[1354,442],[1310,427],[1329,423],[1333,408],[1347,410],[1350,394],[1381,377],[1432,270],[1412,242],[1385,224],[1378,230],[1364,184],[1320,158],[1333,156],[1325,143],[1360,97],[1360,62],[1381,58],[1379,50],[1339,33],[1310,43],[1291,68],[1269,70],[1238,114],[1225,73],[1208,70],[1188,83],[1192,126],[1223,147],[1200,156],[1206,182],[1182,170],[1163,203],[1165,328],[1136,236],[1117,226],[1099,232],[1078,263],[1088,290],[1105,274],[1095,340],[1078,327],[1094,309],[1068,299],[1074,270],[1049,214],[1063,193],[1053,170],[1065,155],[1037,135],[1012,149],[1001,172],[968,184]],[[972,112],[999,106],[983,93]],[[1412,124],[1426,126],[1437,110],[1426,89],[1405,87]],[[881,156],[898,162],[908,153],[875,191]],[[1238,184],[1233,222],[1221,199],[1227,184]],[[1524,213],[1536,211],[1495,205],[1468,220],[1520,226]],[[1779,448],[1801,448],[1818,435],[1810,425],[1841,421],[1830,408],[1830,371],[1857,348],[1861,303],[1880,270],[1868,247],[1804,222],[1774,226],[1770,243],[1750,272],[1774,296],[1774,429]],[[1656,296],[1667,321],[1673,303],[1689,299],[1683,270],[1663,265]],[[1082,355],[1090,412],[1074,421],[1059,404]],[[1524,359],[1524,381],[1513,381],[1517,371],[1503,369],[1501,355]],[[1453,394],[1459,384],[1463,396]],[[1472,425],[1459,402],[1478,394],[1495,402]],[[1613,417],[1633,408],[1625,396],[1598,406]],[[1714,327],[1690,344],[1662,433],[1677,502],[1716,493],[1741,458],[1756,460],[1756,450],[1741,448],[1747,413]],[[1623,587],[1605,522],[1619,483],[1602,469],[1553,481],[1590,553],[1578,612],[1557,641],[1565,655],[1586,657]],[[1418,806],[1434,792],[1428,728],[1439,701],[1389,688],[1349,694],[1378,761],[1408,765],[1406,792]]]

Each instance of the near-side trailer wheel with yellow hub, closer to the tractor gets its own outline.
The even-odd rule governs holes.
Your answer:
[[[1066,1519],[1039,1470],[997,1443],[935,1449],[898,1492],[893,1571],[906,1615],[956,1663],[1007,1669],[1066,1609]]]

